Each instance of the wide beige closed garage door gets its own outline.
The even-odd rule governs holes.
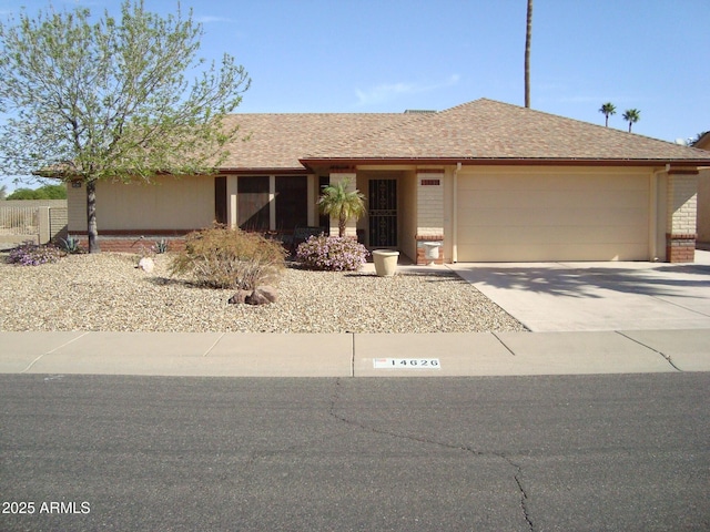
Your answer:
[[[459,174],[459,262],[647,260],[641,172]]]

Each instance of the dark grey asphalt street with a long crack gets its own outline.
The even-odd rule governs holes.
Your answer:
[[[0,375],[0,530],[708,530],[709,403],[708,372]]]

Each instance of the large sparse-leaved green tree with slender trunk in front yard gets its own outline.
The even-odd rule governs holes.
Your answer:
[[[82,181],[89,250],[100,252],[97,182],[213,172],[239,127],[224,117],[250,80],[225,54],[204,68],[202,25],[180,4],[165,18],[123,0],[0,22],[0,170]],[[185,73],[197,72],[194,81]]]

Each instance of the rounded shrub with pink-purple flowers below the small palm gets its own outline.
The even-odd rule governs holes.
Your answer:
[[[312,236],[296,249],[296,260],[307,268],[332,272],[359,269],[368,255],[357,241],[342,236]]]

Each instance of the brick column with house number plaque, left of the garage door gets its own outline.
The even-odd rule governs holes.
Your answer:
[[[444,170],[417,171],[416,241],[417,265],[444,264]],[[438,248],[434,260],[426,257],[426,249],[432,247]]]

